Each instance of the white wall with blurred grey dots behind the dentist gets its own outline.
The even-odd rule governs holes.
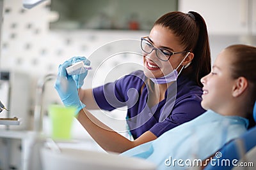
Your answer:
[[[140,55],[119,52],[140,53],[138,40],[147,36],[147,31],[50,31],[49,22],[58,19],[58,15],[50,11],[50,3],[45,1],[26,10],[22,1],[4,1],[0,70],[28,74],[31,78],[28,82],[31,86],[28,92],[31,113],[35,105],[36,82],[46,74],[57,74],[59,64],[70,57],[85,56],[92,62],[93,71],[88,74],[84,88],[115,80],[141,68]],[[45,88],[44,112],[47,104],[60,103],[53,85],[54,81],[49,82]],[[20,107],[19,103],[17,107]],[[119,110],[110,115],[123,118],[123,113]]]

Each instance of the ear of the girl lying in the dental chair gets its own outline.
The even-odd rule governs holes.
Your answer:
[[[232,96],[233,97],[238,97],[243,94],[243,92],[247,89],[248,87],[248,81],[244,77],[239,77],[235,81],[233,90],[232,90]]]

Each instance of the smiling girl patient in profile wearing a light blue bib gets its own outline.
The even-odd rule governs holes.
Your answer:
[[[255,68],[255,47],[228,46],[218,55],[211,73],[201,79],[201,104],[207,111],[121,155],[147,159],[158,169],[188,169],[194,159],[207,159],[246,131],[256,99]]]

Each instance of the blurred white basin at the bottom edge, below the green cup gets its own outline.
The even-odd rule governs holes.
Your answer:
[[[156,166],[143,159],[120,156],[116,153],[60,148],[61,152],[44,147],[40,150],[44,170],[154,170]]]

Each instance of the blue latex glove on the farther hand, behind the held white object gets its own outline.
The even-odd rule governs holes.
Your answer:
[[[91,62],[90,60],[86,59],[86,57],[72,57],[68,61],[72,62],[74,64],[75,62],[83,61],[84,65],[90,66]],[[73,75],[73,79],[76,81],[77,89],[81,88],[84,83],[84,78],[87,76],[88,70],[86,70],[82,74]]]

